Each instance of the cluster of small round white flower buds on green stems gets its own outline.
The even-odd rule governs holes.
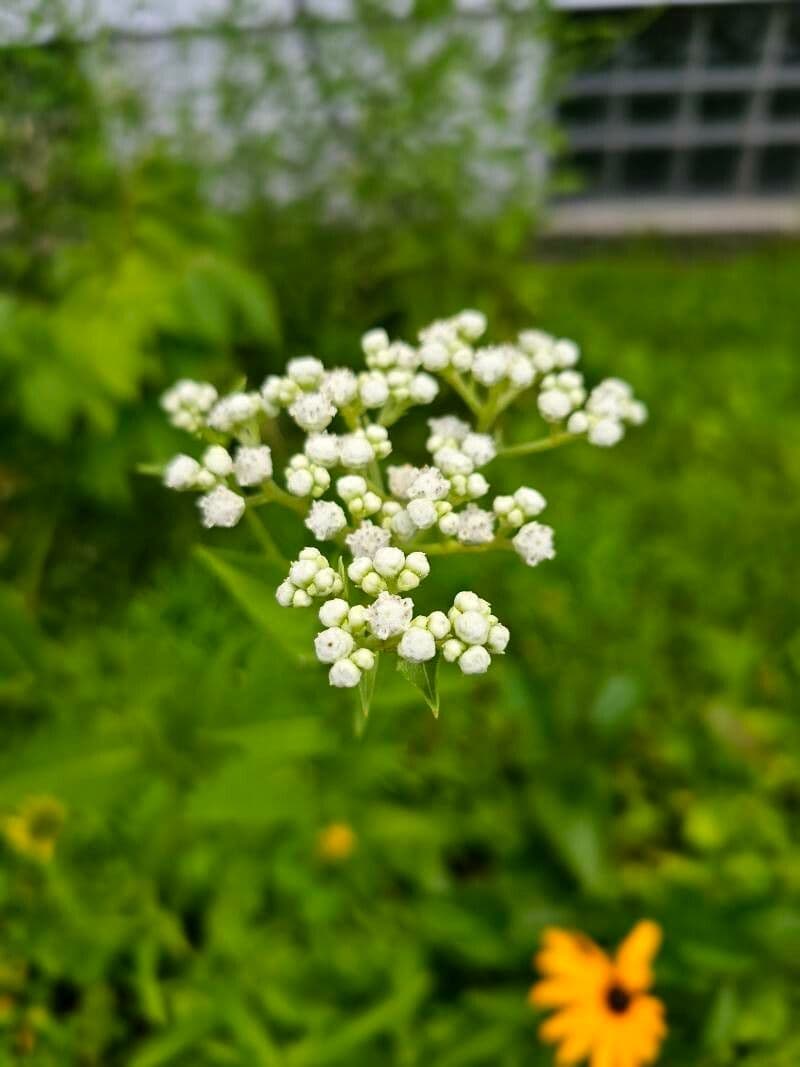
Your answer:
[[[485,329],[480,312],[466,310],[420,331],[417,345],[370,330],[362,371],[329,370],[304,355],[258,392],[220,397],[185,379],[162,398],[173,425],[202,443],[199,458],[180,453],[166,464],[164,484],[201,494],[204,525],[231,527],[247,508],[276,504],[298,512],[315,540],[331,542],[330,558],[317,547],[300,552],[276,599],[291,608],[322,601],[315,651],[334,686],[357,686],[379,653],[411,665],[441,657],[480,674],[506,651],[509,631],[476,593],[462,591],[449,610],[429,615],[415,614],[409,593],[433,556],[510,550],[529,567],[554,558],[553,528],[539,521],[542,494],[523,485],[491,497],[484,474],[502,455],[497,420],[523,393],[535,391],[549,435],[511,446],[516,455],[582,436],[608,447],[646,418],[627,383],[587,387],[573,341],[528,330],[513,343],[482,345]],[[384,465],[389,428],[432,403],[443,385],[470,417],[429,418],[427,461]],[[304,435],[293,452],[277,444],[285,416],[284,430]],[[266,440],[284,456],[281,477],[268,428]]]

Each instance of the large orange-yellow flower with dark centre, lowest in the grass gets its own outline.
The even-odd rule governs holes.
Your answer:
[[[663,1004],[647,990],[661,943],[656,923],[637,923],[609,957],[582,934],[547,929],[534,964],[542,975],[530,990],[534,1007],[556,1008],[542,1040],[557,1044],[558,1064],[640,1067],[658,1055],[667,1033]]]

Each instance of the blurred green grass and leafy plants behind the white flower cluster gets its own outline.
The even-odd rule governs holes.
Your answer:
[[[115,159],[79,50],[0,63],[0,806],[68,809],[50,864],[0,846],[0,1063],[544,1065],[543,925],[649,915],[662,1062],[794,1067],[798,250],[538,259],[513,210],[231,214],[163,147]],[[134,465],[179,445],[179,373],[352,362],[462,305],[575,337],[652,420],[496,472],[547,496],[557,559],[443,560],[425,592],[485,593],[510,654],[445,672],[438,721],[382,675],[357,738],[247,530],[202,535]]]

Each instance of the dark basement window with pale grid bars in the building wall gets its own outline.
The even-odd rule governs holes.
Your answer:
[[[679,17],[663,38],[679,63],[660,65],[655,36],[653,62],[642,62],[647,44],[633,41],[567,87],[562,125],[571,160],[585,172],[577,195],[800,194],[797,9],[785,0],[757,10],[697,4]],[[685,38],[673,39],[676,27]],[[580,121],[581,113],[598,117]]]

